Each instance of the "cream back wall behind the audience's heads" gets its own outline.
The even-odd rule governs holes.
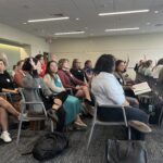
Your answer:
[[[152,59],[154,62],[163,58],[163,34],[143,34],[112,36],[86,39],[57,39],[50,45],[50,52],[58,59],[68,58],[71,61],[75,58],[83,63],[90,59],[93,63],[102,53],[112,53],[118,59],[130,59],[129,67],[133,67],[137,61]],[[134,72],[129,72],[134,75]]]

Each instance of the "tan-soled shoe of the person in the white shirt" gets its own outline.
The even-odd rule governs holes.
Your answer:
[[[145,123],[139,122],[139,121],[129,121],[128,122],[129,126],[131,126],[133,128],[141,131],[141,133],[151,133],[152,129]]]

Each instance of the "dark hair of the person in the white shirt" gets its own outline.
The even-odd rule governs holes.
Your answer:
[[[113,73],[115,66],[115,58],[112,54],[102,54],[96,65],[95,74],[98,75],[101,72]]]

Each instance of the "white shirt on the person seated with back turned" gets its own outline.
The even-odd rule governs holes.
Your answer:
[[[101,72],[91,82],[91,91],[99,105],[118,104],[125,102],[124,90],[115,76],[110,73]]]

